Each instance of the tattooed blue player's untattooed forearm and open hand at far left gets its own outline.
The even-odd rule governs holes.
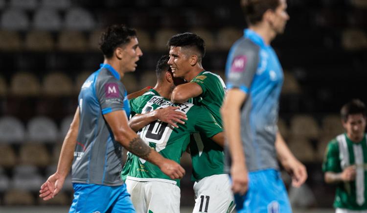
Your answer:
[[[76,138],[78,137],[78,130],[79,107],[76,109],[69,131],[64,139],[57,170],[54,174],[49,176],[47,181],[41,186],[40,197],[44,200],[49,200],[56,196],[64,185],[65,178],[69,174],[72,160],[74,159],[74,149]]]

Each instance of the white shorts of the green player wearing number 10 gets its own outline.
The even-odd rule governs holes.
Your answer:
[[[181,190],[175,184],[127,179],[126,189],[137,213],[180,213]]]

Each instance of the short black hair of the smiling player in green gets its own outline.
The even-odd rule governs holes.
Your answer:
[[[205,42],[204,40],[191,32],[185,32],[172,36],[167,43],[168,47],[189,47],[196,48],[199,51],[199,58],[202,59],[205,56]]]

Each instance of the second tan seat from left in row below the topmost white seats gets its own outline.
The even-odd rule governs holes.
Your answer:
[[[30,31],[25,37],[25,47],[32,51],[47,51],[54,48],[54,41],[49,32]]]

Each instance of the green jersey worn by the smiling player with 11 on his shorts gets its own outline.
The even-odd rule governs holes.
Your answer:
[[[204,106],[217,123],[222,125],[220,108],[226,94],[222,78],[209,71],[200,72],[191,82],[197,83],[203,93],[192,98],[192,103]],[[223,174],[223,148],[201,133],[191,136],[192,180],[199,180],[215,174]]]

